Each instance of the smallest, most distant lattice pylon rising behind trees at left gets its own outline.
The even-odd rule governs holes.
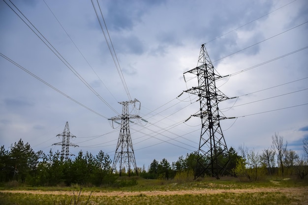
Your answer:
[[[63,133],[62,134],[58,134],[57,137],[60,138],[60,136],[62,136],[62,142],[60,143],[55,143],[53,145],[62,145],[62,151],[61,151],[61,160],[66,161],[68,159],[68,155],[73,155],[73,154],[69,154],[69,146],[78,146],[78,145],[74,145],[72,143],[69,142],[69,138],[73,138],[76,137],[72,134],[70,134],[69,132],[69,127],[68,127],[68,122],[66,122]]]

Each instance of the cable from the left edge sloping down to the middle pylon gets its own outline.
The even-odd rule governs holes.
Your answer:
[[[68,99],[72,100],[73,102],[77,103],[78,105],[81,105],[82,107],[86,108],[87,110],[91,111],[92,113],[100,116],[100,117],[104,117],[106,119],[108,119],[108,117],[105,117],[97,112],[95,112],[94,110],[92,110],[91,108],[87,107],[86,105],[78,102],[77,100],[75,100],[74,98],[68,96],[67,94],[65,94],[64,92],[62,92],[61,90],[53,87],[52,85],[50,85],[49,83],[47,83],[46,81],[42,80],[41,78],[39,78],[38,76],[34,75],[33,73],[31,73],[29,70],[27,70],[26,68],[24,68],[23,66],[19,65],[18,63],[16,63],[15,61],[13,61],[12,59],[9,59],[8,57],[6,57],[5,55],[3,55],[2,53],[0,53],[0,56],[3,57],[4,59],[8,60],[9,62],[13,63],[14,65],[16,65],[17,67],[19,67],[20,69],[24,70],[26,73],[30,74],[32,77],[36,78],[37,80],[39,80],[40,82],[44,83],[45,85],[49,86],[50,88],[53,88],[54,90],[56,90],[57,92],[59,92],[60,94],[64,95],[65,97],[67,97]]]

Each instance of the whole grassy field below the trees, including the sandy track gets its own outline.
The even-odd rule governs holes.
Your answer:
[[[308,183],[291,179],[240,182],[209,178],[185,183],[122,178],[118,187],[6,187],[1,205],[308,205]]]

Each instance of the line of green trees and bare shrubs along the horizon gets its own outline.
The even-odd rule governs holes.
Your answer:
[[[267,176],[297,176],[301,179],[308,175],[308,140],[303,142],[307,156],[299,156],[294,150],[287,149],[283,137],[272,137],[272,145],[263,149],[261,153],[254,149],[248,150],[239,146],[238,150],[230,147],[221,152],[218,161],[228,166],[219,173],[221,176],[236,176],[248,180],[260,180]],[[218,147],[219,149],[219,147]],[[169,163],[166,158],[161,161],[154,159],[146,170],[138,168],[131,170],[130,176],[138,175],[149,179],[191,180],[194,173],[202,169],[197,166],[197,151],[180,156],[176,162]],[[202,158],[205,162],[209,158]],[[119,172],[112,170],[112,160],[103,151],[97,155],[79,151],[74,159],[63,160],[59,152],[34,152],[29,143],[22,139],[14,144],[10,150],[0,147],[0,182],[17,181],[33,186],[70,186],[83,185],[113,185],[117,182]],[[128,175],[125,168],[122,176]],[[211,176],[204,172],[203,177]]]

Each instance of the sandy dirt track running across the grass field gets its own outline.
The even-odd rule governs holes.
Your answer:
[[[22,194],[44,194],[44,195],[73,195],[72,191],[40,191],[40,190],[1,190],[1,193],[22,193]],[[258,188],[258,189],[192,189],[179,191],[139,191],[139,192],[92,192],[92,196],[124,197],[124,196],[159,196],[159,195],[199,195],[199,194],[220,194],[220,193],[259,193],[259,192],[280,192],[292,196],[306,196],[307,187],[291,188]],[[82,195],[90,195],[91,192],[83,191]],[[75,192],[77,194],[77,192]],[[308,199],[307,199],[308,200]]]

